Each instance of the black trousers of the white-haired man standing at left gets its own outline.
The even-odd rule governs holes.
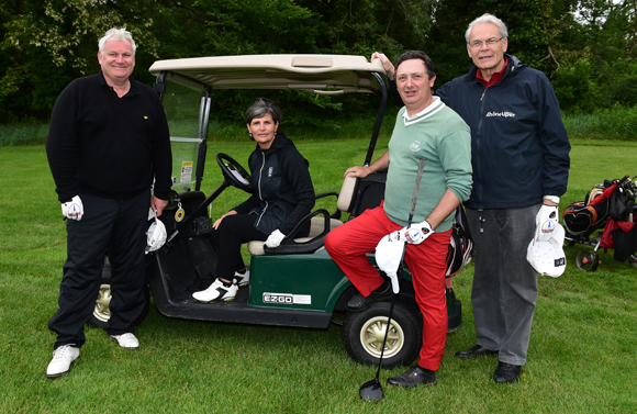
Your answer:
[[[111,261],[111,318],[108,332],[135,332],[145,306],[145,255],[149,191],[126,200],[80,193],[85,215],[67,221],[67,259],[59,286],[58,311],[48,321],[55,348],[85,342],[83,326],[96,305],[104,255]]]

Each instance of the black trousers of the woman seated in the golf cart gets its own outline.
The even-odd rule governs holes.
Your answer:
[[[255,228],[256,214],[227,215],[212,231],[212,246],[217,254],[216,277],[232,280],[234,272],[245,269],[242,258],[242,244],[249,240],[267,240],[268,235]]]

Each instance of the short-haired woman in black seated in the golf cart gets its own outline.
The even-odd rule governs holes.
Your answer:
[[[233,301],[238,287],[248,284],[241,246],[265,240],[278,247],[314,206],[310,163],[280,132],[281,111],[269,99],[257,99],[246,111],[250,138],[257,142],[248,158],[255,192],[214,222],[211,242],[217,253],[216,280],[192,296],[201,302]],[[310,223],[297,236],[306,236]]]

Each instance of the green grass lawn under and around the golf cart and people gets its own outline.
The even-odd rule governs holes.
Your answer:
[[[292,136],[293,137],[293,136]],[[637,144],[575,141],[561,208],[607,178],[635,176]],[[361,164],[367,139],[300,142],[316,191],[338,190],[345,168]],[[378,145],[377,155],[387,147]],[[245,164],[247,143],[211,143],[203,191],[221,182],[214,155]],[[577,269],[582,246],[566,249],[558,279],[541,277],[528,362],[521,381],[491,381],[494,358],[461,361],[474,344],[472,266],[455,277],[461,328],[447,337],[436,387],[383,387],[378,404],[358,398],[376,369],[354,362],[340,327],[294,329],[180,321],[152,307],[141,349],[120,349],[87,328],[71,372],[47,380],[66,231],[43,146],[0,148],[0,413],[635,413],[637,269],[602,254],[597,271]],[[245,194],[227,189],[219,216]],[[333,202],[333,201],[332,201]],[[326,202],[327,203],[327,202]],[[333,210],[333,209],[332,209]],[[384,383],[404,368],[383,370]]]

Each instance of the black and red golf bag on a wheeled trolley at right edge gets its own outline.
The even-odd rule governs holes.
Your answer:
[[[637,267],[636,178],[625,176],[595,184],[584,201],[572,203],[562,213],[568,244],[593,247],[578,253],[575,264],[580,269],[594,271],[597,268],[600,257],[596,251],[600,247],[615,249],[615,260],[628,259]]]

